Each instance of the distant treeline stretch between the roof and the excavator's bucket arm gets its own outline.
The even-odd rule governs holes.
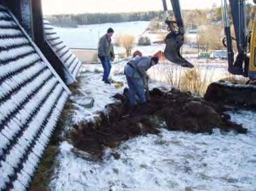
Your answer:
[[[170,11],[171,14],[171,11]],[[51,24],[61,27],[77,27],[85,24],[103,24],[117,22],[164,20],[164,11],[148,11],[137,13],[83,13],[78,15],[56,15],[46,17]]]

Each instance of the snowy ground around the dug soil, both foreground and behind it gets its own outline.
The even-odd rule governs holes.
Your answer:
[[[124,80],[119,74],[122,65],[113,66],[114,80]],[[104,109],[104,105],[114,101],[111,96],[122,91],[104,84],[101,73],[85,72],[100,68],[87,65],[81,70],[81,90],[95,97],[95,106],[80,113],[82,118]],[[107,150],[104,161],[87,161],[72,153],[72,145],[62,142],[60,165],[51,181],[51,190],[255,190],[256,113],[230,114],[234,121],[249,129],[248,134],[221,134],[216,130],[212,135],[195,135],[163,129],[159,136],[124,142],[116,148],[121,154],[119,160]]]

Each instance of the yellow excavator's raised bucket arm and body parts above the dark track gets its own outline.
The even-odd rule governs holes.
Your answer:
[[[250,27],[247,30],[245,0],[229,0],[235,32],[235,36],[232,36],[227,0],[220,1],[223,28],[226,36],[223,38],[223,45],[228,51],[228,72],[234,75],[249,77],[249,80],[256,80],[256,19],[251,19]],[[256,0],[253,2],[256,3]],[[171,0],[171,5],[175,20],[169,20],[167,1],[163,0],[163,7],[167,13],[165,23],[169,30],[169,34],[165,37],[165,57],[173,63],[182,65],[182,67],[194,67],[180,53],[181,47],[184,44],[185,26],[179,0]],[[233,40],[236,42],[236,55],[234,54]]]

